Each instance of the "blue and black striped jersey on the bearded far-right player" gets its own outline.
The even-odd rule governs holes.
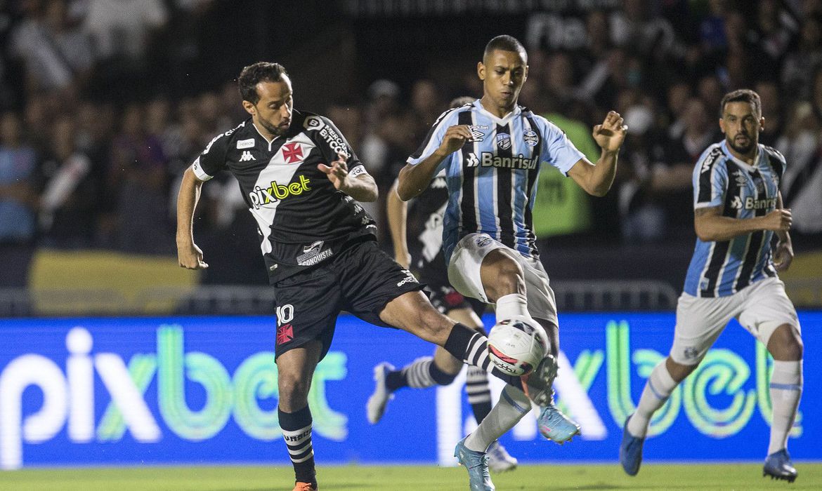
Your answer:
[[[759,145],[755,166],[733,157],[727,143],[711,145],[700,156],[693,175],[694,208],[722,207],[722,216],[761,217],[776,209],[785,158]],[[730,241],[696,239],[685,279],[692,296],[728,296],[761,279],[775,277],[771,258],[774,232],[760,230]]]

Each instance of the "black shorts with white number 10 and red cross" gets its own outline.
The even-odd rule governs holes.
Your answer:
[[[392,327],[380,319],[388,302],[422,290],[374,241],[357,241],[330,260],[274,284],[277,305],[275,356],[312,340],[322,342],[326,356],[337,316],[343,310],[364,321]]]

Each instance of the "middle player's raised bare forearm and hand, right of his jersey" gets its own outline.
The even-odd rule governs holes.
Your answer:
[[[602,149],[597,163],[582,158],[568,171],[568,176],[589,195],[604,196],[611,189],[617,173],[617,156],[628,129],[623,123],[619,112],[608,112],[603,124],[593,126],[593,140]]]

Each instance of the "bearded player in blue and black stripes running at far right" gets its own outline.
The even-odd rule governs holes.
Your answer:
[[[764,126],[760,97],[740,89],[722,100],[719,126],[725,140],[711,145],[694,168],[694,226],[698,239],[677,305],[671,353],[653,369],[640,403],[626,420],[620,461],[636,475],[654,411],[700,364],[713,342],[736,318],[774,356],[770,398],[774,408],[763,475],[793,481],[797,470],[787,436],[802,391],[802,341],[797,312],[777,270],[791,264],[788,229],[779,183],[785,158],[759,144]],[[778,238],[771,246],[774,234]]]

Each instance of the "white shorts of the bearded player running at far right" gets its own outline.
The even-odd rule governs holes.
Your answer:
[[[734,318],[765,346],[783,324],[801,333],[797,310],[778,278],[765,278],[731,296],[700,298],[683,293],[677,302],[672,360],[680,365],[698,364]]]

